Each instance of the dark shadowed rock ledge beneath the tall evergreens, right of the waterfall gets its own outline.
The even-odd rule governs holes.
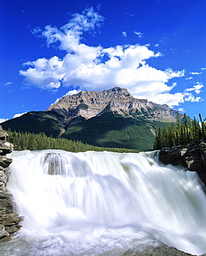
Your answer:
[[[158,153],[159,161],[181,165],[186,170],[197,172],[206,185],[206,140],[196,140],[187,145],[165,147]]]

